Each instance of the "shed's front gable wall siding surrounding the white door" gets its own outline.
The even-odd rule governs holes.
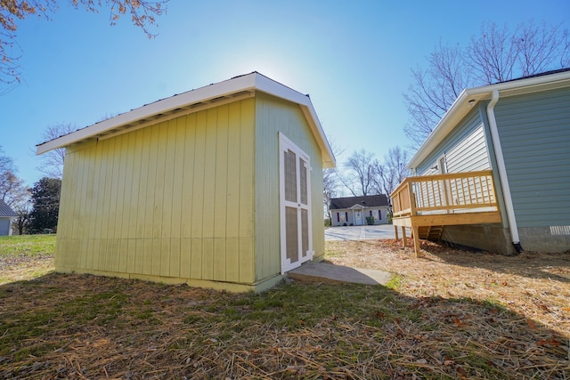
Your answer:
[[[311,158],[313,248],[324,255],[322,154],[297,104],[264,93],[256,95],[256,278],[281,271],[279,133]]]

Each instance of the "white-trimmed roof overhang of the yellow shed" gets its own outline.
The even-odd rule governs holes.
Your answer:
[[[154,101],[94,125],[85,126],[85,128],[76,132],[65,134],[51,141],[42,142],[37,145],[36,154],[39,155],[49,150],[68,147],[81,141],[109,138],[118,133],[123,133],[125,130],[133,131],[137,128],[157,123],[157,120],[179,117],[201,109],[208,109],[231,101],[255,96],[256,92],[268,93],[286,101],[297,103],[302,109],[311,132],[322,151],[323,166],[334,167],[336,165],[329,141],[325,137],[321,122],[317,117],[309,95],[298,93],[292,88],[281,85],[281,83],[256,71]]]

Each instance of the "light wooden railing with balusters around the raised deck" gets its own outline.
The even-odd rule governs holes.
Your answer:
[[[498,211],[491,170],[408,177],[391,197],[394,218]]]

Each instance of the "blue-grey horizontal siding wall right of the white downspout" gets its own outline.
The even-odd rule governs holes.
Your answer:
[[[570,89],[495,106],[517,225],[570,225]]]

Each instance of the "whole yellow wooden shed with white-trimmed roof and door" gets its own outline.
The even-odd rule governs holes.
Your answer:
[[[261,291],[324,255],[322,169],[307,95],[253,72],[37,146],[65,148],[55,267]]]

